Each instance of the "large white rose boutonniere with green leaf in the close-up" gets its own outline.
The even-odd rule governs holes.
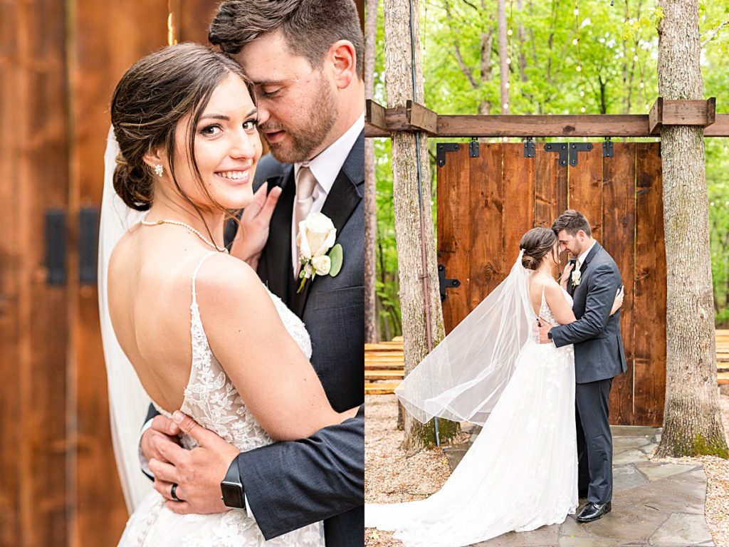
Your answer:
[[[316,276],[330,275],[335,277],[342,269],[343,252],[340,244],[334,244],[337,228],[326,214],[311,213],[299,222],[299,235],[296,244],[299,247],[301,284],[297,294],[304,290],[307,279]],[[329,255],[327,255],[327,252]]]

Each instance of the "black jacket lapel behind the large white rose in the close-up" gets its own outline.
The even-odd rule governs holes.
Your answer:
[[[324,201],[324,206],[321,207],[321,214],[330,217],[334,227],[337,228],[337,238],[357,204],[362,200],[362,193],[358,190],[362,183],[364,183],[364,131],[359,133],[354,147],[349,151],[347,159],[332,185],[332,191],[327,195],[327,201]],[[347,260],[347,249],[343,249],[343,252],[344,260]],[[313,282],[308,280],[304,284],[303,290],[293,297],[291,309],[299,317],[303,317],[306,299],[313,283],[316,283],[316,278]],[[294,290],[298,288],[299,284],[300,280],[295,280]]]

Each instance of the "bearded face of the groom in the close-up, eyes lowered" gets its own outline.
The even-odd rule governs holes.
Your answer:
[[[337,104],[327,71],[292,53],[279,32],[264,34],[236,57],[255,85],[258,126],[274,158],[310,160],[330,144]]]

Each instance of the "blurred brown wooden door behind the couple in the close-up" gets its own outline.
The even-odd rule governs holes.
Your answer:
[[[0,2],[0,546],[120,538],[95,285],[109,100],[170,9],[206,42],[217,4]]]

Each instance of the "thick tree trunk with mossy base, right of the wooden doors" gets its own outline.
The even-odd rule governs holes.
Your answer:
[[[659,0],[658,92],[701,99],[697,0]],[[666,409],[657,454],[729,457],[717,395],[703,128],[663,126]]]

